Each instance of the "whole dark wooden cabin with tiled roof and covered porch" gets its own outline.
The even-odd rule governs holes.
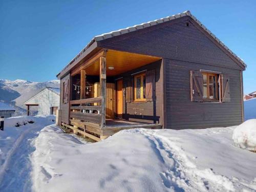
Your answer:
[[[105,33],[57,75],[59,122],[95,140],[134,127],[237,125],[245,68],[189,11]]]

